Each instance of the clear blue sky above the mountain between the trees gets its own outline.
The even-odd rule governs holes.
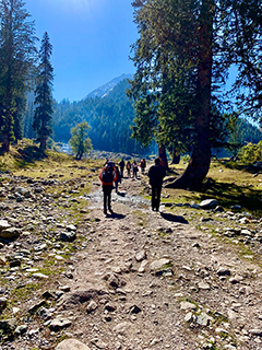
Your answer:
[[[136,37],[132,0],[25,0],[36,35],[52,45],[53,97],[83,98],[122,73],[133,73]]]

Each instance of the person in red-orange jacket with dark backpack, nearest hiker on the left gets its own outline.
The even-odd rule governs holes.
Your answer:
[[[99,174],[102,180],[102,189],[104,192],[104,213],[107,214],[107,209],[111,210],[111,190],[114,188],[112,183],[117,180],[117,172],[112,162],[107,162]]]

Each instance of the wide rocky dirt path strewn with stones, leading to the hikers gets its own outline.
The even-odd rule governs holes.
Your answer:
[[[105,217],[94,183],[56,305],[35,301],[37,331],[2,349],[262,349],[261,265],[165,207],[151,211],[145,186],[124,179]]]

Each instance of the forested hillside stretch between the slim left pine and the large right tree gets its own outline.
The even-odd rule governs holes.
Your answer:
[[[71,128],[85,120],[91,126],[90,138],[94,149],[126,153],[141,151],[136,142],[130,139],[134,110],[132,102],[126,95],[128,88],[128,81],[122,80],[105,97],[56,104],[55,141],[68,142]]]

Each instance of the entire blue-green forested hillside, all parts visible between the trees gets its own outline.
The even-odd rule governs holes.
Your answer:
[[[148,149],[142,150],[130,138],[134,108],[126,95],[129,88],[129,82],[124,79],[104,97],[86,97],[73,103],[70,103],[69,100],[63,100],[60,103],[55,102],[52,115],[55,141],[68,142],[71,138],[71,128],[82,121],[87,121],[91,126],[90,138],[94,149],[129,154],[148,152]],[[32,100],[33,97],[29,95],[24,117],[24,137],[29,139],[35,137],[32,128],[34,114]],[[258,143],[262,140],[260,129],[243,118],[238,118],[233,130],[227,141],[231,144],[238,144],[235,152],[213,149],[213,154],[230,156],[236,154],[241,145],[248,142]]]

